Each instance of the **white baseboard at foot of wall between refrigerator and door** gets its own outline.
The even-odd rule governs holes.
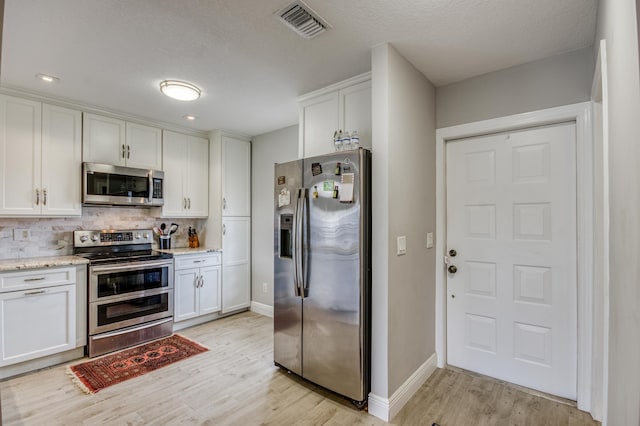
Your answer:
[[[420,386],[436,370],[436,354],[431,355],[414,373],[391,395],[383,398],[373,393],[369,394],[369,414],[385,422],[390,421],[400,412],[402,407],[420,389]]]

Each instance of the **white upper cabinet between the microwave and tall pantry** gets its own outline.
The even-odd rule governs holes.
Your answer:
[[[209,141],[165,130],[163,217],[209,215]]]

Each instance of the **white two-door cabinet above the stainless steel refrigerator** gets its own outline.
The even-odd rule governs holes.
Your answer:
[[[371,149],[371,74],[317,90],[298,98],[300,158],[334,152],[334,132],[360,136],[360,146]]]

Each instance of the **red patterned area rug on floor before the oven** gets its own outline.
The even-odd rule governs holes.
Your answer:
[[[124,349],[82,364],[67,367],[67,373],[86,393],[133,379],[209,349],[180,335]]]

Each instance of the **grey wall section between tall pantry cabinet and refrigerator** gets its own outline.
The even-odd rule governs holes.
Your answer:
[[[251,141],[251,299],[273,306],[274,164],[297,159],[298,126]],[[262,291],[267,283],[268,291]]]

